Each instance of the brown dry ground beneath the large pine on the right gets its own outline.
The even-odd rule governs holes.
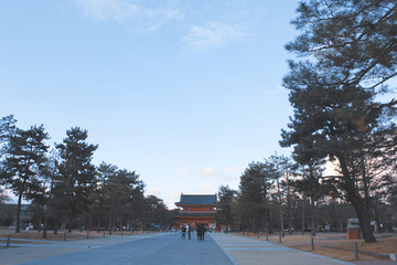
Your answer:
[[[246,235],[247,236],[247,235]],[[249,237],[257,239],[257,235]],[[266,241],[266,234],[260,239]],[[270,235],[269,242],[279,244],[278,235]],[[340,261],[354,262],[353,242],[357,242],[358,251],[388,255],[397,253],[397,235],[389,234],[387,236],[377,236],[376,243],[365,243],[364,240],[347,240],[344,234],[318,234],[313,237],[314,251],[312,251],[310,235],[286,235],[281,237],[281,244],[303,252],[310,252],[316,255],[328,256]],[[336,247],[336,248],[334,248]],[[358,253],[360,261],[385,261],[387,258]]]

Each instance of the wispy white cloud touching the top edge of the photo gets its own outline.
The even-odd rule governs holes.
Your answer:
[[[149,6],[133,0],[74,0],[84,15],[99,21],[115,21],[140,31],[157,30],[163,24],[184,18],[173,1]],[[147,6],[144,6],[147,4]]]

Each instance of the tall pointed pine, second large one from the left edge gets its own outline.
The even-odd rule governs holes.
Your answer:
[[[62,160],[54,189],[66,202],[68,231],[72,232],[73,220],[87,210],[89,194],[95,188],[96,168],[92,159],[98,146],[87,144],[88,131],[79,127],[67,130],[66,135],[63,144],[56,145]]]

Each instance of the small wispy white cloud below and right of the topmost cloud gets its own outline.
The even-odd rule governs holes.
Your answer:
[[[204,26],[193,25],[182,41],[198,51],[206,51],[246,35],[238,24],[208,22]]]

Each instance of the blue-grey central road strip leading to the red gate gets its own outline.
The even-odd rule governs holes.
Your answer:
[[[216,264],[233,265],[234,263],[211,237],[204,242],[181,239],[181,234],[163,234],[157,237],[141,239],[114,245],[92,247],[57,256],[45,257],[24,265],[101,265],[101,264]]]

